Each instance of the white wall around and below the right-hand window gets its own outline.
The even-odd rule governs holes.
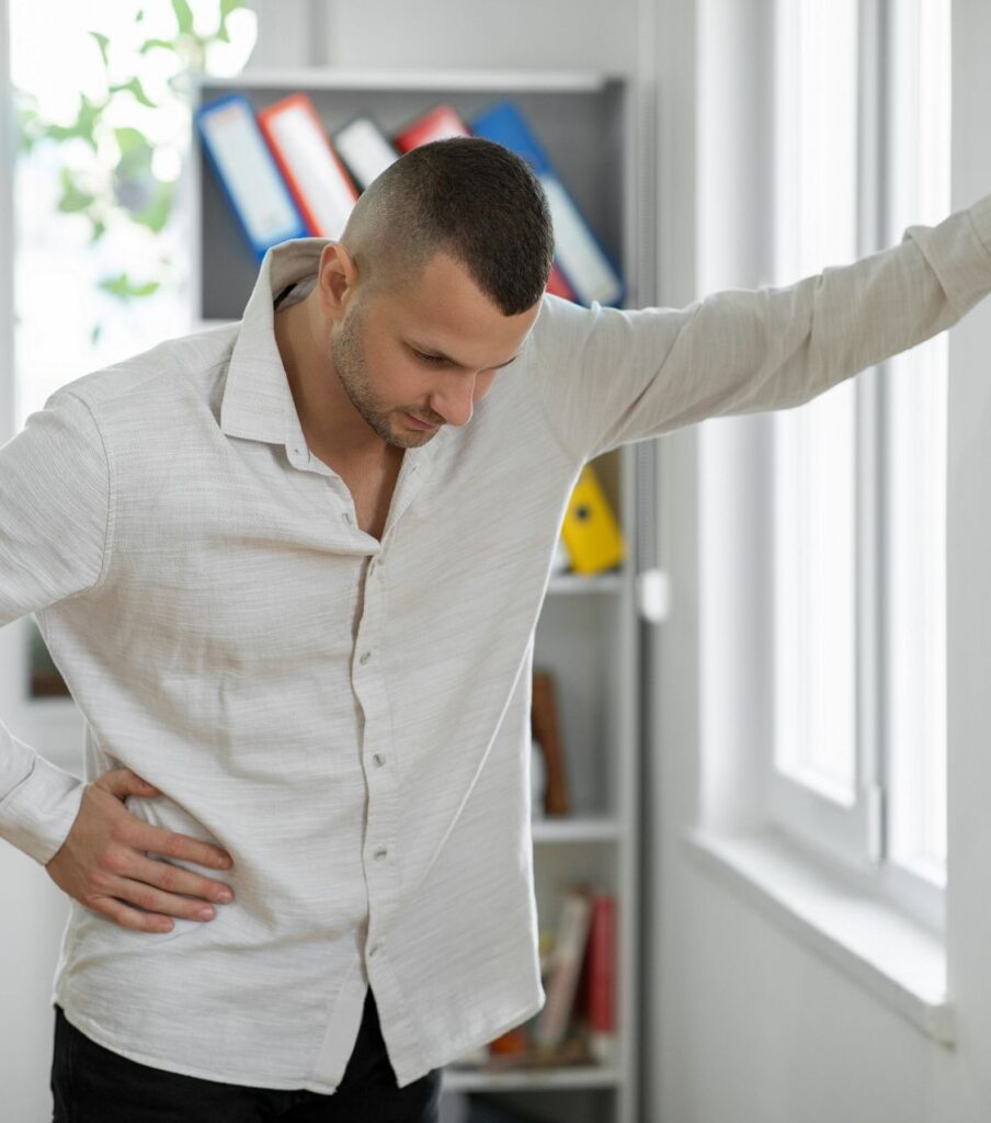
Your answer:
[[[664,0],[669,16],[683,6]],[[696,135],[697,292],[763,283],[768,207],[761,167],[759,91],[770,0],[699,0]],[[954,4],[954,207],[991,190],[991,8]],[[675,77],[672,72],[666,72]],[[685,100],[691,97],[688,79]],[[688,145],[682,152],[688,157]],[[677,198],[677,197],[676,197]],[[670,198],[669,200],[670,201]],[[669,247],[668,247],[669,248]],[[661,264],[667,261],[662,241]],[[680,259],[680,257],[679,257]],[[688,273],[683,274],[686,281]],[[682,303],[685,290],[667,303]],[[698,712],[699,574],[712,582],[707,538],[714,511],[740,501],[721,474],[715,427],[746,442],[759,419],[712,421],[662,441],[663,564],[675,613],[654,658],[651,806],[660,821],[652,866],[651,944],[657,1066],[650,1075],[660,1123],[978,1123],[991,1117],[991,791],[989,646],[991,585],[991,302],[951,332],[949,463],[949,961],[958,1043],[947,1050],[892,1014],[732,889],[695,866],[680,839],[705,797]],[[731,428],[727,428],[731,427]],[[699,514],[699,481],[713,504]],[[745,483],[744,483],[745,490]],[[708,492],[707,492],[708,493]],[[706,593],[712,592],[706,587]],[[725,591],[723,591],[725,592]],[[719,590],[716,590],[719,594]],[[703,640],[714,637],[701,619]],[[746,783],[742,746],[738,772]],[[716,793],[718,797],[719,793]]]

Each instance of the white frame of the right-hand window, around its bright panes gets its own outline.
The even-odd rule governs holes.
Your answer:
[[[796,8],[795,0],[778,0],[774,12],[774,174],[779,186],[784,175],[795,174],[793,164],[790,171],[783,166],[790,153],[786,152],[782,156],[781,139],[782,125],[787,115],[792,112],[791,99],[782,95],[787,65],[782,64],[782,52],[788,49],[784,42],[788,24],[782,24],[782,16],[784,20],[795,19]],[[889,176],[894,164],[889,134],[894,124],[891,118],[894,90],[890,57],[897,44],[894,19],[890,0],[857,2],[857,257],[892,244]],[[792,188],[792,200],[796,198],[793,191]],[[789,212],[793,202],[779,198],[777,203],[778,213],[784,212],[783,221],[795,221],[795,216]],[[891,376],[890,365],[882,363],[862,372],[855,381],[854,798],[851,804],[844,804],[781,772],[772,747],[767,754],[765,765],[765,816],[799,849],[814,851],[817,857],[842,868],[859,889],[887,900],[942,938],[945,934],[945,885],[921,876],[908,864],[890,860],[888,853],[892,746],[887,723],[890,683],[886,656],[889,638],[886,582],[890,572],[889,504],[892,502],[887,478]],[[778,431],[774,426],[768,430],[772,460],[778,455]],[[773,482],[765,501],[777,554]],[[771,612],[778,611],[780,605],[774,596]],[[778,688],[773,646],[770,659],[769,677],[773,692]],[[769,701],[773,711],[773,695]]]

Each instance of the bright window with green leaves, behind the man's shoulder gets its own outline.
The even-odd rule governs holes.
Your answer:
[[[256,19],[246,0],[9,8],[19,153],[7,398],[19,430],[57,387],[190,329],[184,91],[196,71],[238,73]],[[28,696],[66,697],[34,618],[26,627]]]

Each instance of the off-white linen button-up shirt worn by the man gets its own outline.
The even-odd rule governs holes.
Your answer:
[[[545,296],[470,423],[405,451],[380,541],[308,450],[273,336],[322,246],[276,247],[239,323],[66,384],[0,449],[0,624],[36,613],[85,780],[134,769],[162,791],[135,815],[235,862],[178,862],[235,902],[167,933],[71,901],[53,1002],[155,1068],[332,1093],[369,985],[401,1086],[543,1005],[533,638],[582,464],[947,328],[991,291],[991,197],[789,287]],[[47,862],[82,789],[0,725],[0,836]]]

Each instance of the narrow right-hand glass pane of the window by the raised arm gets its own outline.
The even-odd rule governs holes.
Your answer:
[[[898,4],[892,26],[889,240],[949,211],[949,0]],[[888,857],[946,878],[947,339],[887,364]]]

